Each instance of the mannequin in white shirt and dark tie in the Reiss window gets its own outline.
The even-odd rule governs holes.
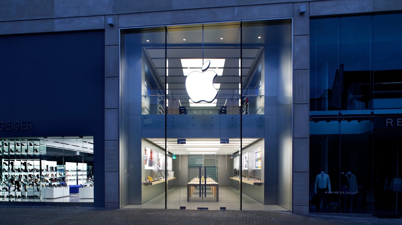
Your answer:
[[[317,194],[319,203],[317,206],[317,212],[320,210],[321,198],[322,200],[322,210],[327,212],[328,208],[328,194],[331,192],[331,182],[329,175],[321,171],[320,174],[316,176],[316,181],[314,182],[314,193]]]

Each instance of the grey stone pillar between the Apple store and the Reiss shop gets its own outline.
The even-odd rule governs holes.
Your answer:
[[[306,12],[300,14],[300,6]],[[310,93],[309,2],[293,4],[293,154],[292,212],[308,214],[309,204],[309,93]]]

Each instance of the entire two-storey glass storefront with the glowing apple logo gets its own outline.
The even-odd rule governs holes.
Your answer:
[[[291,35],[289,20],[123,30],[121,207],[290,211]]]

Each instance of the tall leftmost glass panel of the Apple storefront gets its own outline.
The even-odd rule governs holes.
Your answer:
[[[165,208],[165,42],[161,27],[121,35],[122,207]]]

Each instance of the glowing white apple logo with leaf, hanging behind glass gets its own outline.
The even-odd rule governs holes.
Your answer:
[[[211,62],[205,62],[201,68],[203,72],[193,71],[186,78],[186,90],[191,101],[199,103],[206,101],[211,103],[218,95],[218,90],[213,87],[213,79],[217,76],[212,70],[205,71],[209,68]]]

